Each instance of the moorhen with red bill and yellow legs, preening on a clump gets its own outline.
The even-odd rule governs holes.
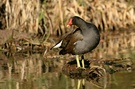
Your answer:
[[[71,17],[68,26],[76,25],[78,28],[67,34],[52,48],[61,48],[59,54],[72,54],[76,55],[77,67],[81,67],[79,55],[82,57],[82,68],[84,65],[83,54],[92,51],[97,47],[100,41],[100,34],[97,27],[84,21],[78,16]]]

